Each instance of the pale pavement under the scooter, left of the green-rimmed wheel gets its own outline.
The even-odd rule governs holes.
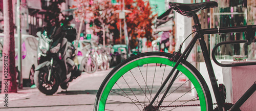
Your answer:
[[[0,94],[0,110],[93,110],[97,90],[111,70],[82,73],[70,82],[68,92],[59,87],[52,96],[42,94],[37,88],[24,87],[18,93],[8,94],[8,108],[4,106],[4,94]]]

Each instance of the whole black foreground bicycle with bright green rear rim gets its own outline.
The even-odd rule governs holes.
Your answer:
[[[94,110],[182,110],[183,108],[185,108],[183,110],[240,110],[239,107],[256,90],[256,82],[254,82],[237,103],[234,105],[225,103],[225,95],[223,92],[219,92],[220,88],[203,36],[205,34],[245,32],[246,40],[224,41],[216,46],[231,43],[250,45],[251,42],[256,42],[254,38],[256,25],[201,29],[196,12],[218,7],[218,3],[169,3],[169,5],[176,12],[194,19],[195,26],[193,28],[197,33],[184,52],[181,53],[182,43],[179,50],[173,54],[147,52],[124,60],[102,82],[96,95]],[[212,103],[208,85],[202,75],[186,61],[197,40],[199,40],[203,52],[218,108],[213,106],[215,103]],[[215,52],[217,47],[212,52]],[[214,56],[212,58],[216,62],[216,58]],[[242,66],[255,65],[256,62],[218,64]],[[185,106],[190,107],[188,109]]]

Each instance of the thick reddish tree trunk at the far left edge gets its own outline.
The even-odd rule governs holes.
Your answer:
[[[15,43],[12,1],[3,1],[4,4],[4,48],[3,48],[3,76],[2,93],[17,93],[15,69]]]

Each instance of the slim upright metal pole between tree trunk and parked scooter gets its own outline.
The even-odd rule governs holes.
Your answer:
[[[18,88],[23,88],[23,79],[22,79],[22,37],[20,34],[20,1],[17,0],[17,37],[18,37],[18,71],[19,71],[19,80]]]

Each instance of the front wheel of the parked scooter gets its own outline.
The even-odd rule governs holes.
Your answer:
[[[35,71],[34,82],[41,93],[46,95],[53,95],[57,92],[59,87],[59,78],[53,73],[50,81],[47,80],[48,72],[44,70]]]

